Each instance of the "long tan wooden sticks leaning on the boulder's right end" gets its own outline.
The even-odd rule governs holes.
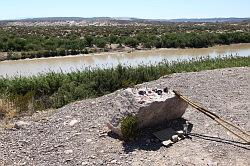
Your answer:
[[[220,118],[218,115],[216,115],[215,113],[208,111],[207,109],[197,105],[196,103],[188,100],[185,96],[181,95],[179,92],[173,90],[173,92],[176,94],[176,96],[180,97],[182,100],[184,100],[186,103],[188,103],[190,106],[194,107],[195,109],[197,109],[198,111],[202,112],[203,114],[207,115],[208,117],[210,117],[211,119],[213,119],[214,121],[216,121],[218,124],[220,124],[222,127],[224,127],[226,130],[228,130],[229,132],[231,132],[232,134],[234,134],[235,136],[237,136],[238,138],[244,140],[246,142],[246,144],[250,144],[249,141],[249,134],[245,131],[243,131],[242,129],[240,129],[239,127],[235,126],[234,124],[232,124],[231,122],[228,122],[222,118]],[[233,127],[234,129],[237,129],[238,131],[240,131],[245,137],[247,137],[248,139],[243,138],[242,136],[239,135],[239,133],[236,133],[235,131],[231,130],[228,126],[229,125],[231,127]]]

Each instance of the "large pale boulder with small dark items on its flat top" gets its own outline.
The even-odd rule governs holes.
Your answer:
[[[122,121],[128,116],[135,117],[138,129],[142,129],[180,118],[188,106],[167,88],[120,90],[112,104],[117,110],[117,114],[107,125],[120,137],[124,136],[121,129]]]

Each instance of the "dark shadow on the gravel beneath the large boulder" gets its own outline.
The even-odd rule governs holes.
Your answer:
[[[133,152],[134,150],[156,151],[162,147],[162,143],[158,140],[153,133],[166,128],[173,128],[174,130],[183,130],[183,124],[186,124],[186,119],[179,118],[171,121],[167,121],[165,124],[146,128],[140,132],[140,136],[137,140],[131,142],[124,142],[123,149],[126,153]],[[189,131],[192,130],[193,125],[189,125]],[[109,132],[108,135],[115,139],[120,139],[115,133]]]

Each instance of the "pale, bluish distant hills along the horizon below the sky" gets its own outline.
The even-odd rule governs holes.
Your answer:
[[[194,19],[140,19],[129,17],[43,17],[18,20],[2,20],[0,25],[24,25],[24,26],[53,26],[53,25],[145,25],[145,24],[169,24],[169,23],[239,23],[249,22],[250,18],[194,18]]]

